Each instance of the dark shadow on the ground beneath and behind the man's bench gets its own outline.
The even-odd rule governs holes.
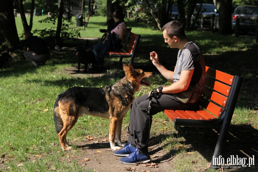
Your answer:
[[[204,157],[208,162],[212,161],[212,156],[215,150],[215,146],[218,140],[220,127],[216,128],[198,128],[198,127],[180,127],[175,126],[178,134],[173,134],[174,139],[181,139],[182,137],[185,141],[179,141],[179,144],[186,145],[189,148],[185,148],[186,152],[197,151]],[[156,145],[157,142],[160,142],[162,139],[167,138],[171,135],[161,134],[155,137],[150,138],[149,146]],[[239,158],[247,158],[246,163],[248,164],[249,157],[255,159],[255,167],[257,168],[257,158],[258,158],[258,130],[253,128],[250,124],[243,125],[230,125],[229,131],[227,134],[226,142],[222,150],[222,157],[225,162],[227,158],[230,158],[230,155],[236,155]],[[170,143],[165,143],[165,146],[168,146]],[[184,146],[183,146],[184,148]],[[150,155],[154,155],[163,148],[157,148],[150,151]],[[162,157],[159,157],[155,162],[160,163],[161,161],[168,160],[171,161],[174,155],[179,154],[180,149],[172,149],[167,154]],[[171,159],[172,157],[172,159]],[[254,165],[253,165],[254,166]],[[251,167],[242,167],[244,171],[257,171],[255,168]],[[235,170],[234,170],[235,171]]]

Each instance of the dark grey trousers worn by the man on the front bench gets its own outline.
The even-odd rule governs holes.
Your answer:
[[[200,101],[185,104],[179,101],[175,96],[173,96],[173,94],[163,94],[159,95],[157,99],[154,97],[152,98],[150,115],[148,115],[148,94],[135,99],[130,113],[130,131],[128,131],[128,143],[135,145],[142,153],[147,152],[148,138],[153,115],[162,112],[165,109],[193,110],[194,108],[198,107],[199,103]]]

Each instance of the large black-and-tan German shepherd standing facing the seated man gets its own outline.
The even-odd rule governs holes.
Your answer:
[[[130,109],[134,93],[140,85],[150,86],[145,81],[151,72],[134,69],[131,64],[123,65],[126,76],[110,86],[101,88],[72,87],[58,95],[54,104],[56,132],[63,150],[71,150],[66,136],[83,114],[110,119],[109,142],[111,149],[124,146],[121,141],[121,128],[124,115]],[[115,146],[115,138],[118,146]]]

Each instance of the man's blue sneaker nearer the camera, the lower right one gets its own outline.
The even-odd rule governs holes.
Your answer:
[[[140,154],[138,148],[127,157],[120,158],[120,162],[124,164],[144,164],[151,161],[149,153]]]

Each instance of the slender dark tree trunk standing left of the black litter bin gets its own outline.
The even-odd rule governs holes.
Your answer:
[[[60,40],[60,34],[61,34],[61,29],[62,29],[62,18],[63,18],[63,13],[64,13],[64,1],[60,1],[60,6],[58,8],[58,17],[57,17],[57,26],[56,26],[56,35],[55,35],[55,44],[61,44]]]

